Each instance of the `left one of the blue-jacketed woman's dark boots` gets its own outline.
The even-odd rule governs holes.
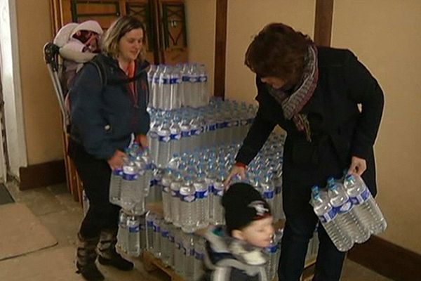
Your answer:
[[[76,273],[79,273],[88,281],[104,280],[104,275],[98,270],[95,260],[98,256],[96,247],[99,238],[85,239],[80,233],[78,236],[76,252]]]

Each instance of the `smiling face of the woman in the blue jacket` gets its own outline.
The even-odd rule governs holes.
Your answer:
[[[138,28],[131,30],[124,34],[119,41],[119,60],[126,63],[131,63],[138,58],[140,51],[142,51],[143,30]]]

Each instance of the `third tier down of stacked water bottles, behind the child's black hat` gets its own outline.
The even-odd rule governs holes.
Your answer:
[[[273,133],[259,155],[250,163],[247,178],[272,207],[274,220],[284,218],[282,211],[281,148],[283,136]],[[185,233],[223,224],[221,205],[227,171],[234,164],[237,145],[220,145],[173,155],[162,176],[163,219]],[[232,183],[239,181],[234,178]]]

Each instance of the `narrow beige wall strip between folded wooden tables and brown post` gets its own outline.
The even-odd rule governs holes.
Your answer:
[[[208,89],[213,95],[215,69],[216,1],[185,0],[189,61],[204,63],[208,70]]]

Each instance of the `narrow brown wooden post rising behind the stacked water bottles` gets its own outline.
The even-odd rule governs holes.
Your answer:
[[[225,54],[227,50],[227,1],[216,1],[215,73],[213,95],[225,98]]]

